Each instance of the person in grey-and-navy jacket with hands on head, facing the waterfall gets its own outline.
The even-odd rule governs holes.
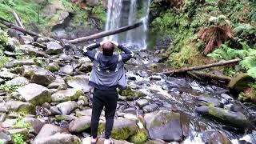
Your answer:
[[[102,52],[94,49],[102,46]],[[124,54],[114,54],[114,47],[124,51]],[[91,117],[91,143],[98,141],[98,122],[105,106],[105,141],[104,144],[113,143],[110,134],[114,124],[114,114],[118,102],[117,88],[127,88],[124,63],[133,57],[133,52],[118,42],[108,41],[94,43],[83,49],[83,54],[94,63],[91,71],[89,85],[94,87],[92,117]]]

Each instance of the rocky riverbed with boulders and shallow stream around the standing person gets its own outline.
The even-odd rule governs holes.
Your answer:
[[[0,143],[14,134],[32,144],[90,142],[90,59],[76,46],[9,32],[17,38],[0,70]],[[118,91],[115,143],[256,143],[255,106],[225,86],[158,73],[166,69],[161,53],[136,51],[126,64],[130,88]],[[104,135],[104,111],[100,119]]]

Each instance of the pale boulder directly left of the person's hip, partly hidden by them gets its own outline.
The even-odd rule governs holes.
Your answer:
[[[74,77],[66,77],[66,84],[76,89],[82,89],[85,93],[90,91],[89,77],[85,75],[78,75]]]

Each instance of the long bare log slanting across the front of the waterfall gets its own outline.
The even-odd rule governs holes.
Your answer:
[[[90,35],[90,36],[87,36],[87,37],[76,38],[76,39],[70,40],[69,42],[72,43],[72,44],[77,44],[77,43],[81,43],[81,42],[90,41],[90,40],[93,40],[93,39],[103,38],[103,37],[106,37],[106,36],[109,36],[109,35],[119,34],[119,33],[125,32],[127,30],[135,29],[139,26],[142,26],[142,24],[143,24],[143,22],[141,21],[141,22],[137,22],[137,23],[135,23],[134,25],[131,25],[131,26],[123,26],[123,27],[118,28],[116,30],[103,31],[101,33],[93,34],[93,35]]]

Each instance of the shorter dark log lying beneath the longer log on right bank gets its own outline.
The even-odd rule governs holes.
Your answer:
[[[191,71],[190,73],[195,74],[198,77],[202,77],[202,78],[216,79],[216,80],[225,81],[225,82],[230,82],[231,81],[230,77],[216,75],[216,74],[204,73],[202,71]]]

